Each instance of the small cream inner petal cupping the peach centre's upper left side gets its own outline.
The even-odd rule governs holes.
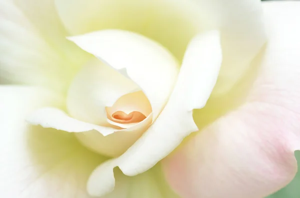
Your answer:
[[[83,122],[107,125],[105,107],[138,90],[132,80],[94,58],[73,79],[67,94],[67,112]]]

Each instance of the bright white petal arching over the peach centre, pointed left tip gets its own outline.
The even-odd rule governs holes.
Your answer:
[[[151,104],[153,120],[158,116],[178,73],[176,59],[164,47],[122,30],[96,31],[69,39],[134,81]]]

